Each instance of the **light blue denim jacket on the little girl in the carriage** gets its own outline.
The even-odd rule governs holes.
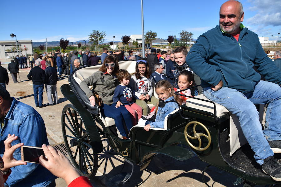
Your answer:
[[[165,102],[170,100],[174,100],[174,97],[167,98]],[[150,123],[151,128],[164,128],[165,117],[177,108],[178,104],[174,102],[166,103],[163,108],[158,107],[155,122]]]

